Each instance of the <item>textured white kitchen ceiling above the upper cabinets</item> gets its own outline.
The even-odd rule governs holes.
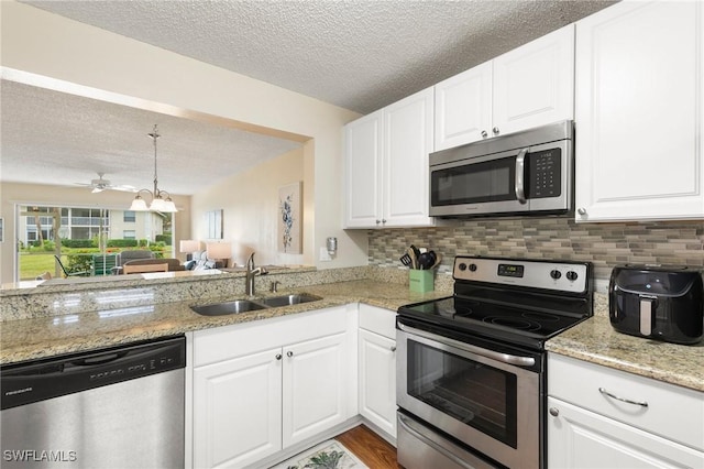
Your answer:
[[[604,1],[23,1],[369,113]]]

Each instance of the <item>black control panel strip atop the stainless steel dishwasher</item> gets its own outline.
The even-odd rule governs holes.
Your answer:
[[[12,408],[186,367],[184,336],[0,368],[1,408]]]

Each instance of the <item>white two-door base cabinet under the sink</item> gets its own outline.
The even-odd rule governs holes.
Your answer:
[[[356,415],[346,316],[328,308],[195,332],[194,467],[245,467]]]

